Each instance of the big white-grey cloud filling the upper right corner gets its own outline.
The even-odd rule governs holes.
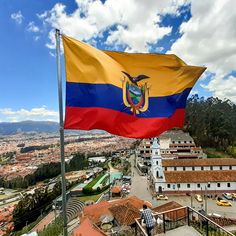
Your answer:
[[[192,1],[192,18],[182,23],[183,34],[171,47],[188,64],[205,65],[213,73],[210,82],[202,85],[214,96],[236,102],[236,79],[228,76],[236,61],[236,1]]]

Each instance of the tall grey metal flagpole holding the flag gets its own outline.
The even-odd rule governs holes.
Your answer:
[[[58,102],[60,118],[60,149],[61,149],[61,187],[62,187],[62,216],[63,216],[63,234],[67,232],[66,217],[66,179],[65,179],[65,151],[64,151],[64,124],[63,124],[63,105],[62,105],[62,81],[61,81],[61,64],[60,64],[60,30],[56,29],[56,55],[57,55],[57,79],[58,79]]]

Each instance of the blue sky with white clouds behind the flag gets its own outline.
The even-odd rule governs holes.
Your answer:
[[[200,2],[2,0],[0,122],[58,119],[55,27],[99,49],[175,53],[207,66],[193,92],[236,102],[235,1]]]

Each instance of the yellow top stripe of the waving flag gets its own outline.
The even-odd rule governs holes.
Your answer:
[[[175,55],[101,51],[63,36],[67,82],[112,84],[122,88],[125,75],[146,75],[149,96],[168,96],[194,86],[205,67],[188,66]]]

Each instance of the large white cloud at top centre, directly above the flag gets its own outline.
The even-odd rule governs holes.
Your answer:
[[[100,0],[76,0],[76,3],[77,9],[70,14],[66,13],[65,5],[57,3],[50,11],[37,14],[38,18],[52,28],[84,41],[108,31],[106,43],[109,46],[123,45],[126,51],[144,52],[149,50],[149,44],[156,43],[172,30],[160,26],[160,15],[178,15],[178,8],[187,1],[107,0],[103,3]],[[50,43],[46,44],[50,49],[55,48],[53,38],[50,31]]]

